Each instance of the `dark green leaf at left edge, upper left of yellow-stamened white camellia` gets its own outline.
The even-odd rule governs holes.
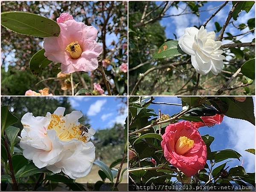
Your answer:
[[[8,109],[8,106],[1,107],[1,134],[3,136],[3,131],[10,125],[18,122],[18,118],[14,116]]]

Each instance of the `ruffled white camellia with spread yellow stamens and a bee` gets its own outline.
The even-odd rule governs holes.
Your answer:
[[[62,171],[76,179],[88,175],[93,166],[95,146],[89,140],[95,131],[81,131],[80,111],[63,116],[64,111],[59,107],[45,117],[26,113],[21,119],[20,147],[24,157],[33,160],[38,168],[46,167],[53,173]]]

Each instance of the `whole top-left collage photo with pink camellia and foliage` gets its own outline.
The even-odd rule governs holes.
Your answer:
[[[2,3],[2,94],[126,95],[126,10],[127,2]]]

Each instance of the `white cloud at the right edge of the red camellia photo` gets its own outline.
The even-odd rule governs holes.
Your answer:
[[[232,119],[227,116],[225,116],[224,123],[228,127],[229,144],[233,145],[232,149],[242,155],[243,166],[246,172],[254,172],[255,157],[244,150],[255,148],[255,127],[245,120]]]

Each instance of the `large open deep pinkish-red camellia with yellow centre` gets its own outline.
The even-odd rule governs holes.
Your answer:
[[[191,122],[181,121],[168,125],[162,138],[164,157],[187,177],[204,169],[207,146]]]

